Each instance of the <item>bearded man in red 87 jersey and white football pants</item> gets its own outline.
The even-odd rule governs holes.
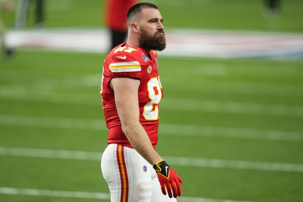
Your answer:
[[[101,170],[111,201],[177,201],[181,178],[156,152],[163,97],[157,53],[165,49],[163,18],[150,3],[127,12],[127,42],[106,57],[102,104],[108,130]],[[167,193],[167,195],[166,195]]]

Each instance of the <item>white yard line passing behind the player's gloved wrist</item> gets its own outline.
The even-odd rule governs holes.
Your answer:
[[[102,153],[88,152],[88,151],[0,147],[0,155],[101,161]],[[287,163],[275,163],[275,162],[270,163],[270,162],[248,161],[248,160],[225,160],[225,159],[207,159],[207,158],[174,157],[174,156],[163,156],[163,158],[168,160],[169,164],[175,166],[303,173],[303,164],[287,164]]]

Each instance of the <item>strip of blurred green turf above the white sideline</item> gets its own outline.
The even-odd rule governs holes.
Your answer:
[[[13,1],[15,2],[15,1]],[[105,1],[46,0],[47,27],[106,27]],[[144,1],[140,1],[144,2]],[[203,28],[303,32],[300,0],[281,1],[279,15],[269,15],[264,0],[170,0],[156,4],[167,28]],[[30,5],[27,27],[34,26],[34,4]],[[2,14],[9,27],[14,12]]]

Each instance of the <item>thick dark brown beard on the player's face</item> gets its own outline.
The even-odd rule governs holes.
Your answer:
[[[150,36],[147,31],[142,29],[141,34],[139,34],[139,42],[143,47],[155,51],[163,51],[166,47],[165,35],[163,30],[158,30],[153,36]]]

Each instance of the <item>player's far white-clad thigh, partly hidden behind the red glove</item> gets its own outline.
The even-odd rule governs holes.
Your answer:
[[[153,183],[153,189],[152,189],[152,198],[151,202],[177,202],[177,199],[172,197],[169,198],[168,194],[164,195],[161,191],[161,186],[157,177],[156,172],[154,171],[152,173],[152,183]]]

